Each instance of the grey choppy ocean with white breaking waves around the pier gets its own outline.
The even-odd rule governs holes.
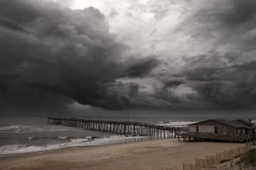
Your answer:
[[[100,120],[138,121],[170,127],[187,127],[188,124],[206,118],[86,118]],[[85,128],[49,125],[47,118],[0,118],[0,157],[26,155],[59,148],[93,146],[101,144],[132,143],[147,137],[116,135],[110,132],[86,130]]]

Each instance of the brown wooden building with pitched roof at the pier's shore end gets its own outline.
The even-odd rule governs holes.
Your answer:
[[[189,125],[182,133],[184,141],[245,142],[255,139],[256,127],[247,120],[205,120]]]

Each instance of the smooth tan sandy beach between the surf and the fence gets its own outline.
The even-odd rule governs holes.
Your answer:
[[[2,157],[0,169],[182,169],[236,143],[184,143],[162,139],[141,143],[65,148],[33,155]]]

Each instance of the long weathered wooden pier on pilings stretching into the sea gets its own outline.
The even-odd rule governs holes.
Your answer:
[[[178,137],[180,128],[164,127],[131,121],[86,120],[83,118],[47,118],[47,123],[69,127],[99,130],[113,134],[144,135],[152,139]]]

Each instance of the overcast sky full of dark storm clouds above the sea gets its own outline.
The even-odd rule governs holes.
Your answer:
[[[2,108],[254,110],[255,8],[254,0],[0,0]]]

